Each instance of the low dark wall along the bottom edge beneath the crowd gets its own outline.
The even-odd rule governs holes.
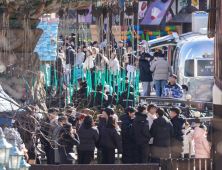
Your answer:
[[[158,164],[117,165],[32,165],[29,170],[159,170]]]

